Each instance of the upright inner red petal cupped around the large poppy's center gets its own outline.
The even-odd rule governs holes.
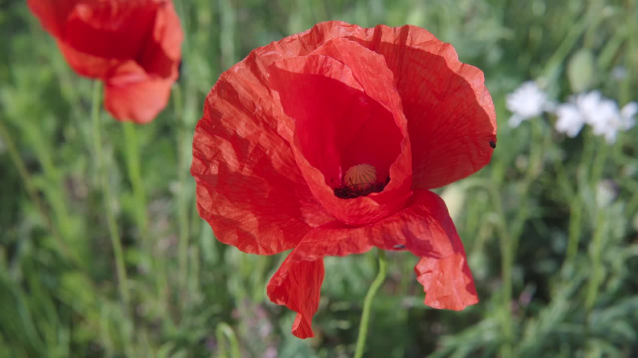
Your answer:
[[[410,194],[410,143],[383,57],[353,41],[332,39],[312,55],[269,69],[283,109],[294,118],[297,164],[324,208],[352,225],[401,210]],[[362,163],[377,168],[380,182],[389,175],[389,185],[366,197],[336,197],[332,188],[341,185],[341,175]]]

